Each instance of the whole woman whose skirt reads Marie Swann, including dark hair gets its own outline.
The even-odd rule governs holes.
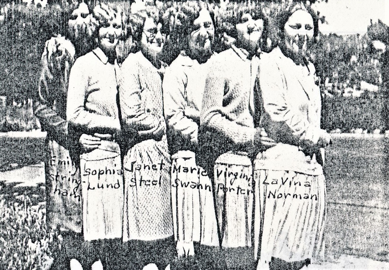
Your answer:
[[[172,205],[177,252],[179,256],[196,254],[203,264],[200,268],[214,269],[216,259],[208,261],[219,250],[213,188],[206,171],[195,160],[202,94],[209,58],[214,55],[214,14],[207,4],[197,1],[183,2],[177,11],[170,37],[177,41],[182,52],[166,70],[162,84],[173,161]],[[184,168],[191,171],[185,172]]]

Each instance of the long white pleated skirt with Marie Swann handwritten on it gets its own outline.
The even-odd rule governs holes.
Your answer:
[[[213,187],[206,171],[196,165],[195,153],[172,157],[172,206],[176,240],[218,246]]]

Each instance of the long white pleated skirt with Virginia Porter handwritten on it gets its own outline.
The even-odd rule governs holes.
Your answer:
[[[252,165],[245,154],[228,152],[215,162],[216,210],[223,247],[251,247]]]

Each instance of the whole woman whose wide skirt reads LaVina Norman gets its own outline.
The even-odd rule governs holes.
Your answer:
[[[321,96],[307,48],[318,32],[309,6],[294,3],[277,16],[278,46],[259,67],[261,127],[276,145],[254,163],[261,202],[259,269],[301,269],[323,256],[326,185],[321,147]],[[269,264],[270,263],[270,264]]]

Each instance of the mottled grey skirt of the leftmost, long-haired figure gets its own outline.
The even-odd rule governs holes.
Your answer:
[[[69,151],[56,141],[48,140],[46,173],[47,224],[52,228],[81,233],[82,198],[79,166]]]

